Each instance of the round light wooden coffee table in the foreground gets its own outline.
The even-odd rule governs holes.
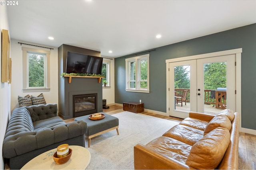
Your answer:
[[[38,170],[38,169],[52,169],[52,170],[59,170],[59,169],[86,169],[88,164],[91,160],[91,154],[88,149],[70,145],[70,149],[72,149],[72,155],[70,160],[65,164],[58,165],[54,162],[52,155],[56,152],[56,149],[48,150],[32,160],[26,163],[21,169],[23,170]]]

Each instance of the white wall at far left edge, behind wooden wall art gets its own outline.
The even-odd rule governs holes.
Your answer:
[[[7,19],[7,6],[0,5],[0,29],[6,29],[9,32],[9,24]],[[0,34],[0,39],[2,39],[2,34]],[[12,48],[12,47],[11,47]],[[0,41],[0,51],[2,51],[2,41]],[[1,61],[2,61],[2,53]],[[1,75],[1,64],[0,64],[0,75]],[[7,127],[7,123],[10,117],[10,90],[11,84],[0,83],[0,153],[2,155],[2,146],[4,141],[4,135]],[[2,156],[1,156],[2,157]],[[4,158],[0,160],[0,169],[4,169]]]

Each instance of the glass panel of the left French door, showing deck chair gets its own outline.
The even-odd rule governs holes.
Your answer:
[[[174,109],[190,111],[190,65],[174,66]]]

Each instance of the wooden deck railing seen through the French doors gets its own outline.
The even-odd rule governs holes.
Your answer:
[[[188,90],[186,100],[190,102],[190,89],[186,88],[176,88],[174,89],[177,94],[183,94],[184,90]],[[216,108],[225,109],[226,108],[226,91],[215,91],[213,95],[214,98],[211,98],[211,90],[204,90],[204,104],[213,104],[216,105]],[[216,101],[216,98],[218,99]]]

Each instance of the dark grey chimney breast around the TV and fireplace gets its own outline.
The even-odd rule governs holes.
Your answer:
[[[83,49],[80,47],[74,47],[71,45],[62,44],[58,47],[58,74],[66,72],[66,60],[67,51],[75,53],[81,53],[86,55],[93,55],[100,57],[99,51],[93,51],[89,49]],[[98,82],[98,78],[87,78],[87,77],[73,77],[72,82],[69,82],[69,78],[61,78],[58,76],[58,116],[62,119],[71,119],[80,115],[92,114],[102,112],[102,80]],[[85,95],[84,95],[85,94]],[[95,98],[95,109],[87,108],[85,113],[74,109],[74,96],[86,96],[87,94],[97,94]],[[90,97],[90,96],[89,96]],[[80,97],[78,97],[80,98]],[[82,98],[83,99],[83,98]],[[78,101],[78,100],[77,100]],[[93,103],[89,100],[88,103]],[[78,105],[78,104],[76,104]],[[80,105],[80,104],[79,104]],[[83,106],[80,106],[83,107]],[[89,111],[88,111],[89,110]],[[81,112],[80,112],[81,111]]]

